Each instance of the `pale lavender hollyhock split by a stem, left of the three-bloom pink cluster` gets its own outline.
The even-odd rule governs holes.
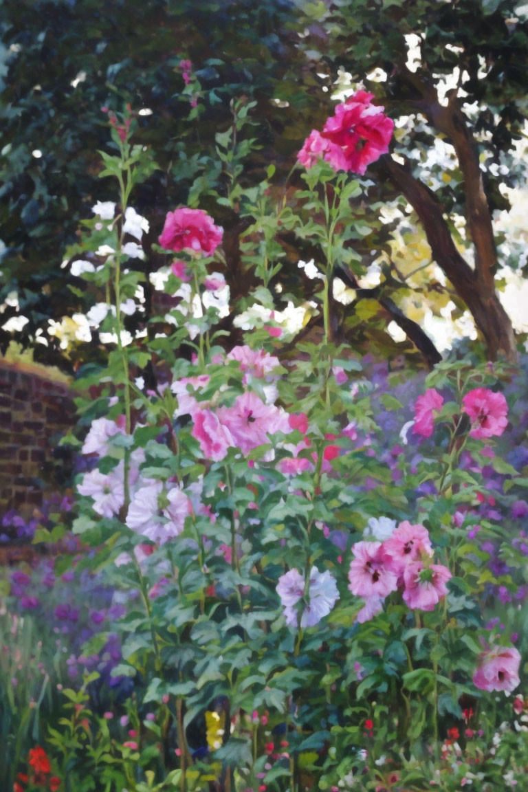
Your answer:
[[[277,593],[284,608],[284,618],[288,626],[298,625],[296,604],[305,597],[305,579],[298,569],[291,569],[279,577]],[[334,577],[328,571],[319,572],[313,566],[310,571],[310,584],[304,601],[301,616],[302,627],[313,627],[321,621],[339,600],[339,592]]]

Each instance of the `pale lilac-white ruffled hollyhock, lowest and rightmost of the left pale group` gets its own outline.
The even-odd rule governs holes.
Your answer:
[[[165,544],[184,530],[191,502],[178,487],[165,490],[162,482],[138,489],[128,508],[125,524],[154,543]]]

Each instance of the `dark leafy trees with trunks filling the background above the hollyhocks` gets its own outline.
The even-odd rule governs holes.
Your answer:
[[[200,205],[226,229],[226,278],[244,298],[254,259],[241,234],[256,215],[230,196],[233,169],[249,189],[273,163],[272,197],[286,190],[296,200],[300,174],[288,182],[287,174],[302,141],[332,113],[336,92],[363,85],[396,131],[392,154],[368,169],[361,195],[351,198],[355,256],[336,276],[352,291],[348,305],[333,306],[336,333],[397,354],[386,333],[395,322],[407,338],[400,351],[418,349],[433,364],[439,354],[427,316],[469,311],[488,356],[515,357],[496,289],[504,265],[522,268],[522,249],[498,232],[493,213],[508,208],[508,189],[524,181],[528,25],[518,5],[6,0],[2,348],[15,338],[66,367],[101,352],[95,337],[91,352],[74,345],[65,356],[50,320],[82,313],[94,300],[61,264],[79,222],[97,200],[113,197],[110,181],[98,179],[108,142],[102,108],[131,105],[135,140],[158,166],[138,198],[150,219],[147,250],[168,209]],[[317,243],[279,227],[274,242],[282,295],[310,299],[318,285],[298,261],[317,261]],[[135,266],[155,270],[156,253]],[[367,272],[378,274],[369,281]],[[281,292],[272,295],[283,308]],[[10,321],[20,317],[28,321]]]

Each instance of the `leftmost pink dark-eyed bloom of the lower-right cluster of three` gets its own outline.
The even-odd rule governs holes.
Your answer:
[[[370,600],[396,591],[397,575],[387,565],[389,558],[381,542],[356,542],[352,553],[355,558],[348,570],[352,594]]]

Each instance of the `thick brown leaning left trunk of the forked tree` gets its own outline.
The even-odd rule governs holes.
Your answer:
[[[390,180],[416,211],[436,263],[473,315],[484,337],[489,359],[496,360],[503,356],[516,360],[513,328],[495,289],[490,257],[485,258],[484,251],[478,268],[473,270],[458,252],[434,192],[412,175],[408,163],[402,166],[389,155],[383,160]],[[487,234],[483,231],[481,236],[483,249]],[[492,249],[494,251],[494,247]]]

